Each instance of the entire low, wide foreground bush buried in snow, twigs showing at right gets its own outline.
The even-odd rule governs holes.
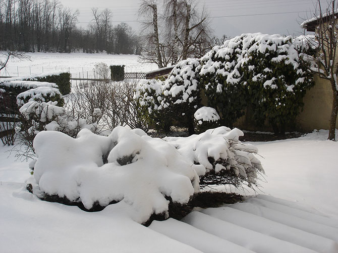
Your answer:
[[[123,209],[144,223],[152,214],[167,216],[168,199],[187,203],[199,191],[199,177],[210,172],[231,175],[235,185],[256,184],[263,169],[253,155],[257,149],[238,141],[242,134],[221,127],[162,140],[117,127],[109,136],[83,129],[74,139],[43,131],[34,139],[38,158],[28,183],[42,199],[57,196],[86,209],[116,203],[110,211]]]

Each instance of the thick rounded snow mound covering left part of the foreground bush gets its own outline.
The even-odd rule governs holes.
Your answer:
[[[119,202],[114,206],[140,223],[153,213],[167,215],[165,197],[184,204],[199,191],[199,178],[189,160],[140,129],[117,127],[109,136],[83,129],[77,139],[42,131],[34,148],[35,194],[66,197],[87,209]]]

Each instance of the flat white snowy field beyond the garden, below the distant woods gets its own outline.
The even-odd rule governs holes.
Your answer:
[[[4,55],[0,52],[0,59]],[[147,72],[157,69],[156,64],[139,63],[137,55],[114,55],[106,53],[25,53],[30,60],[11,58],[6,69],[0,76],[18,76],[41,74],[53,71],[67,71],[73,78],[93,77],[93,68],[96,63],[104,62],[109,65],[125,65],[126,72]]]

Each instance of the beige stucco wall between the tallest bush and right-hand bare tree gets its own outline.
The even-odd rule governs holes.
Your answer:
[[[332,96],[330,82],[315,75],[315,86],[307,91],[303,99],[303,112],[297,117],[300,130],[310,132],[313,129],[328,129]],[[336,125],[338,126],[338,120]]]

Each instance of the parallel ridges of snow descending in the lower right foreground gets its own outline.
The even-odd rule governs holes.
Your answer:
[[[149,228],[202,252],[338,252],[338,220],[265,195]]]

